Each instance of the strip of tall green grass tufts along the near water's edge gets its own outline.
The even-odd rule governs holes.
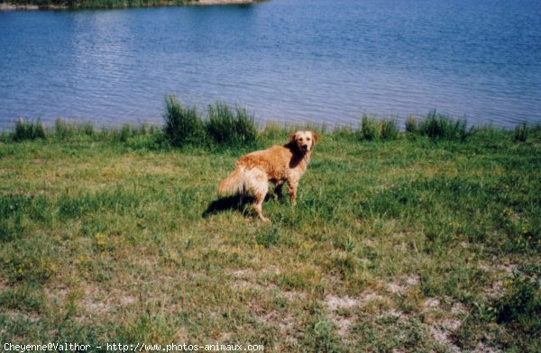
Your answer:
[[[209,104],[206,112],[201,113],[197,106],[182,104],[174,95],[165,98],[161,129],[152,125],[132,126],[124,124],[116,127],[103,127],[96,130],[91,122],[65,122],[57,119],[52,128],[44,127],[37,121],[19,119],[12,132],[4,132],[0,140],[110,140],[122,142],[135,149],[160,149],[170,147],[227,147],[245,148],[263,146],[284,134],[284,131],[313,130],[326,134],[326,125],[307,123],[305,125],[267,122],[259,131],[256,118],[247,109],[216,102]],[[502,135],[516,142],[525,142],[528,137],[541,135],[541,125],[522,123],[514,131],[506,131],[491,126],[472,126],[467,128],[465,120],[453,118],[432,111],[424,118],[409,116],[405,122],[405,131],[399,131],[396,119],[362,115],[358,129],[337,126],[332,131],[335,139],[353,139],[363,141],[397,140],[401,136],[426,137],[429,140],[458,141],[493,140],[501,142]]]

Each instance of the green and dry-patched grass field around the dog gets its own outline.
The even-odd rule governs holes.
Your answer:
[[[408,123],[319,131],[298,205],[263,204],[271,224],[215,190],[287,129],[226,148],[149,127],[4,133],[2,347],[540,351],[541,129]]]

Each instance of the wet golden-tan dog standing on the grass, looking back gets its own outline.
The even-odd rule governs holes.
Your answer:
[[[298,181],[307,170],[316,142],[315,132],[297,131],[289,135],[289,142],[283,146],[244,155],[237,160],[233,173],[220,182],[218,195],[252,194],[255,212],[262,222],[270,222],[261,212],[269,181],[274,184],[274,197],[281,195],[282,186],[288,182],[291,204],[297,204]]]

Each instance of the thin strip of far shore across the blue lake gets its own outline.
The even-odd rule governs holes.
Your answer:
[[[152,6],[205,6],[205,5],[251,5],[261,3],[264,0],[91,0],[72,2],[72,5],[67,5],[66,2],[58,2],[56,4],[41,4],[40,1],[35,3],[28,2],[27,4],[0,3],[0,11],[14,10],[68,10],[82,8],[122,8],[122,7],[152,7]]]

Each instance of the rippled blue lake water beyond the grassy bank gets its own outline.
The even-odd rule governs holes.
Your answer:
[[[541,121],[538,0],[273,0],[0,12],[0,130],[19,116],[161,122],[163,98],[261,121],[363,113]]]

